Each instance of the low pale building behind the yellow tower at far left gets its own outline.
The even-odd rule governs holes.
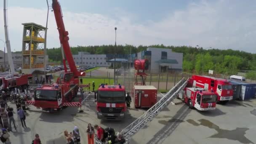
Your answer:
[[[22,67],[22,54],[21,53],[12,53],[13,56],[13,64],[15,68]],[[5,58],[5,60],[4,60]],[[38,56],[37,61],[43,64],[44,58],[43,56]],[[48,55],[46,56],[46,61],[48,62]],[[8,55],[4,52],[0,51],[0,68],[8,68]]]

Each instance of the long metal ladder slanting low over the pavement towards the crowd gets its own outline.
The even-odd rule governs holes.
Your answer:
[[[128,125],[126,128],[121,131],[125,137],[125,144],[128,144],[131,140],[131,137],[137,133],[141,128],[143,128],[147,123],[153,120],[163,108],[165,108],[173,99],[175,99],[179,92],[182,91],[187,85],[187,80],[182,78],[179,83],[177,83],[168,93],[165,94],[154,106],[152,106],[147,112],[141,115],[137,120]],[[95,139],[96,144],[104,144],[98,139]]]

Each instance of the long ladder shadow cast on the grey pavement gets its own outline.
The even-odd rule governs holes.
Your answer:
[[[166,125],[150,139],[147,144],[162,144],[165,139],[175,131],[179,124],[184,121],[185,117],[191,112],[187,105],[182,106],[176,115],[171,118]],[[173,119],[173,120],[172,120]]]

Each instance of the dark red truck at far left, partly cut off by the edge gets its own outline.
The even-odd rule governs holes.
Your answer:
[[[13,76],[10,78],[0,77],[0,90],[20,88],[27,89],[29,80],[32,80],[32,75]]]

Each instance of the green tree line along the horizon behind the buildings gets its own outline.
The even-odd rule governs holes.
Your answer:
[[[129,54],[145,51],[148,47],[171,48],[173,52],[183,53],[183,71],[190,73],[206,73],[209,69],[219,74],[236,75],[240,70],[249,72],[256,70],[256,54],[232,49],[203,49],[191,46],[165,46],[165,45],[94,45],[72,47],[72,54],[78,51],[87,51],[91,54]],[[60,48],[47,49],[51,61],[61,61]],[[251,72],[250,75],[253,75]],[[249,77],[251,77],[248,75]]]

